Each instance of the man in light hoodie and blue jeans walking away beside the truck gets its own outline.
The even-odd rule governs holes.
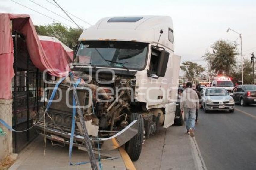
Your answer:
[[[190,82],[186,83],[186,89],[182,92],[180,110],[185,114],[187,134],[194,136],[195,130],[195,109],[199,108],[197,93],[191,88]]]

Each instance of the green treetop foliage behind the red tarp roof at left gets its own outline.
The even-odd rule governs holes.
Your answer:
[[[35,25],[35,28],[38,35],[56,37],[73,50],[75,50],[78,38],[82,34],[81,29],[68,28],[60,23],[52,23],[45,26]]]

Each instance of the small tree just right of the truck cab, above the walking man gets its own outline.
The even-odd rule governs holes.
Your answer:
[[[180,69],[185,72],[185,76],[189,81],[193,81],[195,77],[198,77],[202,72],[204,72],[204,68],[201,65],[192,61],[183,62]]]

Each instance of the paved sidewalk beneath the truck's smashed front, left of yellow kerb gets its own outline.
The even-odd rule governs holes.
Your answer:
[[[79,170],[91,169],[90,164],[85,165],[69,165],[68,162],[68,145],[65,147],[52,146],[50,141],[46,141],[46,155],[44,157],[44,141],[43,137],[39,136],[28,147],[26,147],[18,156],[16,162],[9,170]],[[117,157],[114,160],[102,160],[104,170],[124,170],[126,166],[121,158],[118,150],[111,151],[111,157]],[[95,155],[98,158],[98,155]],[[72,163],[89,161],[89,157],[85,151],[78,150],[73,147]]]

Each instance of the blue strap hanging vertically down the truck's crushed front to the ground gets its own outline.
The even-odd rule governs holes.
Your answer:
[[[81,82],[81,79],[78,79],[76,81],[76,83],[74,84],[74,88],[76,88],[80,82]],[[83,164],[90,163],[90,162],[78,162],[78,163],[72,163],[71,162],[73,140],[74,140],[74,133],[75,133],[75,123],[76,123],[75,117],[76,117],[76,100],[75,100],[75,97],[73,95],[72,127],[71,127],[68,159],[69,159],[69,164],[70,165],[83,165]]]

